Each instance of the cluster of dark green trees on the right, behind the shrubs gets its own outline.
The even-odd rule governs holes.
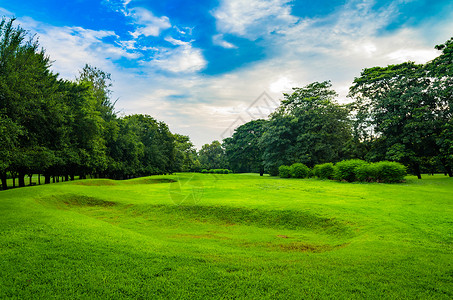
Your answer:
[[[452,177],[453,38],[436,49],[440,56],[423,65],[364,69],[347,105],[338,104],[329,81],[294,88],[268,120],[246,123],[223,141],[224,167],[278,175],[282,165],[355,158],[400,162],[419,178]]]

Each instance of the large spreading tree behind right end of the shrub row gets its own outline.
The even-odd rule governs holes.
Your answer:
[[[369,160],[399,161],[421,178],[421,160],[437,155],[442,126],[430,86],[424,66],[413,62],[364,69],[355,78],[350,96],[356,128],[373,133],[363,134],[373,139]]]

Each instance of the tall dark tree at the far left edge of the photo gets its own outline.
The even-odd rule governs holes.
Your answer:
[[[58,136],[62,114],[54,101],[57,75],[50,71],[50,58],[13,23],[14,19],[0,23],[0,110],[22,130],[8,168],[24,186],[25,175],[40,167],[33,159],[37,149],[48,153],[51,139]]]

